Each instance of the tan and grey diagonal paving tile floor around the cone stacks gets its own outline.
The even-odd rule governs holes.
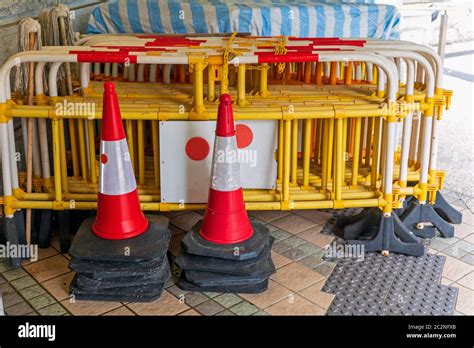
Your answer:
[[[463,212],[452,239],[434,238],[429,252],[444,255],[441,284],[458,288],[455,314],[474,314],[474,214],[456,193],[444,192]],[[173,236],[170,250],[179,252],[181,239],[201,212],[168,213]],[[277,268],[266,292],[257,295],[191,293],[176,285],[179,269],[159,300],[151,303],[74,301],[69,283],[74,275],[59,242],[40,249],[39,260],[12,270],[0,260],[0,290],[6,315],[324,315],[335,295],[323,292],[335,263],[322,260],[334,236],[320,233],[331,217],[317,210],[255,211],[252,219],[267,224],[275,237],[272,257]],[[0,315],[1,315],[0,306]]]

